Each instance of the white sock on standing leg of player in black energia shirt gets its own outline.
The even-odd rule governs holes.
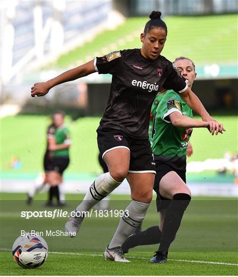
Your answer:
[[[119,225],[113,235],[113,238],[108,246],[108,248],[114,248],[118,246],[122,246],[122,244],[126,241],[129,235],[131,235],[134,230],[141,225],[146,211],[150,204],[137,202],[132,200],[129,206],[126,208],[128,213],[125,213],[121,217]]]

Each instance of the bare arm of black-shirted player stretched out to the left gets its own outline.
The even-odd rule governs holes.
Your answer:
[[[73,81],[96,72],[93,63],[94,61],[92,60],[82,66],[78,66],[76,68],[65,71],[64,73],[47,82],[35,83],[34,86],[31,88],[31,97],[44,96],[49,92],[51,88],[56,85]]]

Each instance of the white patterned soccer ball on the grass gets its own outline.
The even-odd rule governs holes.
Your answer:
[[[19,266],[36,268],[44,264],[47,259],[48,245],[41,236],[21,235],[12,246],[12,255]]]

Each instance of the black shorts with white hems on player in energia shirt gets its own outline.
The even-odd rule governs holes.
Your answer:
[[[130,173],[155,173],[154,156],[147,139],[132,138],[111,128],[97,131],[97,145],[102,157],[110,150],[126,148],[130,151]]]

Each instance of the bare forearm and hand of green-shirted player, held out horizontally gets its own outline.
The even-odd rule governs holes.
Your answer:
[[[181,128],[208,128],[210,133],[214,135],[214,133],[217,135],[219,133],[219,123],[216,121],[199,121],[194,120],[193,118],[182,115],[180,112],[172,112],[169,115],[169,119],[173,126],[175,127],[181,127]]]

